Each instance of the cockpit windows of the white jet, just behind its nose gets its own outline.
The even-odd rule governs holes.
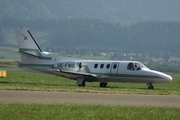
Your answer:
[[[139,62],[130,62],[127,65],[128,70],[141,70],[142,68],[147,68],[147,67]]]

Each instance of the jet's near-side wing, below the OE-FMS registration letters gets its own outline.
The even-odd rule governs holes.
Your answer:
[[[59,70],[59,69],[49,69],[48,71],[66,73],[66,74],[75,75],[75,76],[81,76],[81,77],[100,78],[100,76],[96,75],[96,74],[90,74],[90,73],[84,73],[84,72],[78,72],[78,71],[67,71],[67,70]]]

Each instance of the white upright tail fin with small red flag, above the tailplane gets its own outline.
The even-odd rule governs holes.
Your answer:
[[[18,52],[20,54],[22,54],[23,56],[26,56],[26,58],[36,57],[36,58],[44,59],[44,60],[51,59],[51,57],[44,56],[41,48],[39,47],[36,40],[34,39],[34,37],[32,36],[32,34],[27,28],[20,27],[20,28],[17,28],[15,31],[16,31],[16,37],[17,37],[17,42],[19,46]],[[21,59],[22,59],[22,55],[21,55]]]

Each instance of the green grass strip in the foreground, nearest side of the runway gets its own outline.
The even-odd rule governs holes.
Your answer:
[[[85,104],[0,104],[1,120],[179,120],[180,108]]]

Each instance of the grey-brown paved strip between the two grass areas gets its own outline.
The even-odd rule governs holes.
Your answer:
[[[78,103],[180,107],[180,96],[0,90],[0,103]]]

